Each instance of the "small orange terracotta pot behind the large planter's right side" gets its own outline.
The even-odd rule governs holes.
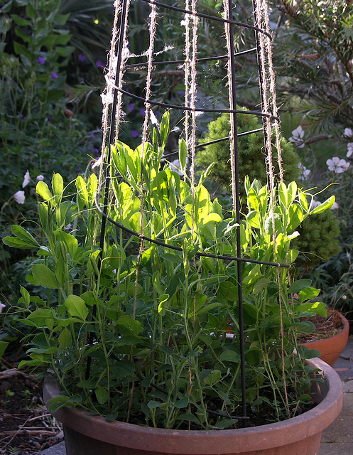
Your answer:
[[[342,350],[344,350],[349,336],[349,322],[342,314],[340,314],[340,318],[344,323],[344,327],[342,328],[342,331],[337,333],[337,335],[330,338],[324,338],[322,340],[313,340],[301,343],[303,346],[308,346],[309,349],[320,350],[320,359],[324,360],[331,366],[335,364],[336,360],[342,354]]]

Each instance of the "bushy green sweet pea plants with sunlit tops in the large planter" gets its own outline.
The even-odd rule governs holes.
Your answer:
[[[50,400],[52,410],[70,405],[174,429],[237,427],[236,230],[244,259],[292,264],[295,229],[333,199],[312,209],[308,194],[282,183],[272,215],[267,186],[246,178],[239,226],[211,200],[203,185],[207,172],[197,184],[189,181],[185,141],[179,144],[184,179],[161,164],[168,130],[166,113],[143,150],[119,141],[112,146],[107,216],[116,224],[107,223],[100,242],[94,173],[86,181],[77,177],[77,192],[68,196],[59,174],[51,189],[38,182],[45,241],[38,243],[21,226],[4,238],[6,245],[37,250],[27,280],[47,291],[40,299],[21,288],[18,306],[28,312],[21,322],[33,328],[31,360],[21,366],[40,367],[41,375],[58,380],[61,395]],[[96,199],[102,205],[99,190]],[[317,354],[297,346],[298,332],[313,331],[300,318],[325,314],[325,308],[313,303],[319,290],[310,280],[290,283],[285,267],[245,261],[241,273],[249,422],[257,412],[269,421],[286,419],[310,402],[312,368],[304,360]]]

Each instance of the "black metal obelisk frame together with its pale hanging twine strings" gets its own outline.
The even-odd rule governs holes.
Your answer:
[[[139,97],[133,93],[127,91],[124,87],[124,72],[129,66],[139,67],[141,63],[136,65],[127,65],[127,60],[129,58],[129,50],[127,45],[127,29],[128,29],[128,17],[129,17],[129,8],[132,0],[122,0],[116,1],[116,16],[113,29],[113,38],[112,38],[112,48],[110,50],[110,63],[109,63],[109,73],[107,74],[107,89],[104,95],[104,113],[103,113],[103,128],[104,128],[104,140],[102,144],[102,157],[100,160],[100,173],[99,173],[99,188],[104,187],[104,205],[99,207],[98,203],[98,193],[96,197],[97,207],[102,213],[102,234],[100,240],[100,247],[103,250],[104,246],[104,231],[107,220],[114,223],[118,228],[128,232],[130,235],[136,235],[140,238],[140,241],[148,240],[158,245],[163,245],[168,247],[171,250],[181,250],[179,247],[166,245],[163,242],[158,242],[151,238],[143,236],[143,232],[134,232],[124,228],[123,225],[116,223],[114,220],[109,218],[107,215],[107,207],[109,204],[109,192],[110,192],[110,181],[109,181],[109,162],[111,159],[111,146],[114,144],[114,141],[119,135],[119,124],[121,120],[122,112],[122,95],[131,97],[131,99],[139,100],[144,103],[146,106],[146,117],[144,122],[144,131],[143,131],[143,141],[146,141],[146,125],[148,123],[148,111],[151,106],[164,107],[165,109],[179,109],[181,112],[185,112],[185,136],[188,139],[189,154],[192,158],[191,162],[191,174],[193,175],[193,166],[195,162],[193,157],[195,156],[195,118],[197,112],[214,112],[221,114],[223,112],[229,112],[230,114],[230,124],[231,132],[229,135],[230,149],[231,149],[231,164],[232,164],[232,196],[234,204],[234,213],[235,220],[238,225],[237,235],[236,235],[236,244],[237,244],[237,257],[229,256],[217,256],[217,259],[224,260],[234,260],[237,262],[237,282],[238,282],[238,299],[239,299],[239,347],[240,347],[240,358],[241,358],[241,403],[242,403],[242,416],[239,418],[244,419],[244,424],[246,424],[246,380],[245,380],[245,360],[244,360],[244,319],[243,319],[243,296],[242,296],[242,279],[241,279],[241,263],[242,262],[255,262],[259,264],[268,264],[274,267],[283,266],[283,264],[276,263],[276,254],[275,262],[261,262],[251,259],[243,259],[241,257],[241,238],[240,238],[240,223],[241,223],[241,214],[240,214],[240,196],[239,196],[239,153],[238,153],[238,126],[237,126],[237,114],[249,114],[262,117],[264,124],[264,143],[266,147],[266,165],[268,171],[268,186],[273,193],[273,164],[272,164],[272,154],[271,154],[271,134],[274,129],[276,134],[276,149],[278,152],[278,164],[280,165],[280,178],[282,180],[283,172],[281,171],[281,149],[279,146],[279,127],[278,127],[278,116],[276,109],[276,97],[274,95],[274,76],[273,76],[273,67],[271,62],[271,34],[268,30],[268,11],[266,0],[253,0],[253,9],[254,9],[254,25],[251,26],[246,23],[239,23],[233,21],[232,11],[234,3],[232,0],[224,0],[224,17],[220,18],[219,16],[209,16],[207,14],[200,14],[197,12],[197,2],[192,0],[186,0],[185,9],[170,6],[163,4],[159,1],[153,0],[141,0],[146,4],[151,6],[151,16],[150,22],[153,25],[150,26],[150,43],[148,51],[145,55],[147,62],[143,65],[148,66],[148,75],[146,84],[146,98]],[[191,3],[191,5],[190,5]],[[187,18],[187,31],[185,33],[185,61],[163,61],[155,62],[153,61],[153,40],[156,33],[156,14],[158,9],[178,11],[178,13],[183,14]],[[224,23],[224,32],[227,40],[227,55],[219,56],[209,56],[206,58],[198,59],[196,56],[197,52],[197,23],[199,18],[207,18],[214,21],[221,21]],[[154,20],[154,22],[153,22]],[[256,36],[256,48],[251,48],[249,50],[243,50],[239,53],[234,52],[234,27],[244,27],[254,31]],[[191,31],[192,33],[191,33]],[[192,36],[192,46],[191,37]],[[191,56],[190,56],[190,47]],[[260,82],[260,93],[261,93],[261,110],[260,111],[240,111],[237,109],[237,85],[236,85],[236,73],[235,73],[235,58],[238,55],[257,52],[257,61],[259,66],[259,82]],[[133,55],[132,55],[133,56]],[[195,85],[195,64],[201,63],[202,61],[207,62],[209,60],[224,60],[227,59],[227,72],[228,72],[228,91],[229,91],[229,109],[206,109],[195,107],[195,98],[197,86]],[[153,63],[153,64],[152,64]],[[153,92],[151,92],[151,71],[153,65],[172,65],[172,64],[183,65],[185,68],[185,105],[168,105],[158,100],[153,99]],[[191,64],[190,64],[191,63]],[[123,88],[124,87],[124,88]],[[191,95],[190,95],[191,93]],[[192,119],[191,132],[189,131],[189,119]],[[273,122],[275,124],[273,128]],[[258,130],[256,130],[258,131]],[[243,132],[244,134],[251,134],[254,131]],[[203,144],[205,146],[207,144]],[[141,217],[142,220],[142,217]],[[275,223],[273,223],[274,227]],[[273,233],[274,234],[274,233]],[[275,243],[275,235],[273,236],[273,245]],[[198,256],[204,257],[215,257],[214,255],[207,253],[197,253]],[[102,258],[101,258],[102,259]],[[284,266],[286,267],[286,266]],[[87,378],[89,377],[90,361],[87,361]]]

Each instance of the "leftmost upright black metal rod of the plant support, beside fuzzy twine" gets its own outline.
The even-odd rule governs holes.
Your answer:
[[[113,89],[113,101],[112,101],[112,114],[110,116],[109,120],[109,137],[108,137],[108,154],[107,154],[107,164],[104,164],[104,161],[102,160],[102,166],[105,166],[105,183],[104,183],[104,203],[103,203],[103,213],[102,215],[102,227],[101,227],[101,234],[100,234],[100,239],[99,239],[99,248],[101,249],[99,252],[99,257],[98,257],[98,269],[100,270],[101,264],[102,264],[102,259],[103,259],[103,249],[104,249],[104,237],[105,237],[105,230],[107,226],[107,211],[108,211],[108,201],[109,201],[109,186],[110,186],[110,176],[109,176],[109,163],[111,160],[111,155],[112,155],[112,141],[113,141],[113,135],[114,135],[114,125],[115,125],[115,120],[116,120],[116,104],[117,104],[117,98],[118,98],[118,90],[116,90],[116,81],[119,78],[119,73],[120,73],[120,67],[121,67],[121,55],[122,55],[122,49],[123,49],[123,44],[124,44],[124,24],[126,21],[126,11],[127,11],[127,4],[128,0],[123,0],[123,4],[121,7],[121,16],[120,16],[120,26],[119,26],[119,40],[118,40],[118,46],[117,46],[117,62],[116,62],[116,72],[115,72],[115,78],[114,78],[114,89]],[[111,55],[112,58],[112,55]],[[105,144],[104,144],[105,145]],[[92,318],[94,318],[97,314],[97,306],[93,306],[92,309]],[[88,339],[88,344],[92,344],[93,341],[93,336],[92,333],[89,334],[89,339]],[[91,370],[91,363],[92,363],[92,358],[87,357],[87,365],[86,365],[86,373],[85,373],[85,378],[89,378],[89,373]]]

